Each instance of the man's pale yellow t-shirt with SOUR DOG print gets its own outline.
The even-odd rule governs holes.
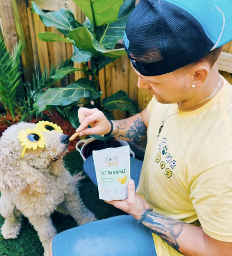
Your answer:
[[[232,241],[232,87],[204,106],[182,112],[154,98],[137,193],[159,214],[194,223]],[[158,130],[165,120],[159,135]],[[181,255],[153,234],[158,256]]]

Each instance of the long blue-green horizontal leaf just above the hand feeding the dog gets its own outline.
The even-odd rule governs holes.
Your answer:
[[[46,92],[37,95],[33,106],[40,112],[50,106],[67,106],[78,102],[81,98],[94,101],[101,97],[101,92],[96,91],[96,85],[88,78],[80,78],[64,88],[49,88]]]

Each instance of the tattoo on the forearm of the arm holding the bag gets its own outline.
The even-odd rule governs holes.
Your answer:
[[[149,227],[152,233],[160,236],[167,244],[179,252],[178,249],[180,246],[176,239],[181,234],[183,226],[188,224],[180,220],[174,220],[170,217],[157,214],[153,211],[149,212],[142,224]]]

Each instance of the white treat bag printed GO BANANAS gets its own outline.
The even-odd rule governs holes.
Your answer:
[[[112,201],[127,198],[130,179],[129,145],[93,151],[99,198]]]

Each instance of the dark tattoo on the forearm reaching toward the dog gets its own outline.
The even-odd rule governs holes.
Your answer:
[[[127,121],[119,122],[119,124],[116,125],[118,132],[115,135],[118,135],[119,138],[136,141],[140,140],[147,134],[147,127],[144,125],[144,122],[141,118],[137,118],[137,120],[134,121],[134,125],[130,126],[128,130],[127,125]],[[123,133],[120,134],[120,131],[123,131]]]

